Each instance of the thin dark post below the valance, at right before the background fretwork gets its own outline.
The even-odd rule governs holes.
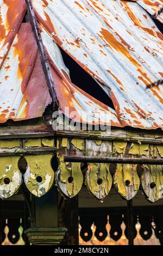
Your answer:
[[[133,199],[127,201],[128,245],[134,245]]]

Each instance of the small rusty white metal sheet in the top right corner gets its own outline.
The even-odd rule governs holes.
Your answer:
[[[163,23],[163,1],[162,0],[138,0],[141,5],[149,14],[155,19]]]

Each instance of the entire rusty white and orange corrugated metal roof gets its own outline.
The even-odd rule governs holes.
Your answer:
[[[76,121],[81,120],[83,111],[90,118],[95,113],[110,113],[114,126],[163,129],[159,85],[163,76],[162,34],[138,3],[32,0],[32,4],[62,112],[65,106],[77,110],[77,117],[72,117]],[[30,25],[21,24],[25,1],[3,0],[0,12],[4,32],[0,35],[0,122],[39,117],[51,97]],[[111,97],[116,112],[71,82],[53,40],[95,78]]]

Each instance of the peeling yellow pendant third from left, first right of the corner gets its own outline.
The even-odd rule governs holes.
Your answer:
[[[80,163],[65,163],[61,157],[55,177],[60,192],[66,197],[76,196],[82,188],[83,173]]]

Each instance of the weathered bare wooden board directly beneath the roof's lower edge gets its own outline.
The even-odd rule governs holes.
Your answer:
[[[54,131],[52,125],[27,125],[0,127],[0,139],[4,138],[36,138],[36,137],[67,137],[102,139],[104,141],[126,141],[137,143],[163,143],[163,132],[153,131],[130,131],[122,129],[111,129],[111,131]]]

